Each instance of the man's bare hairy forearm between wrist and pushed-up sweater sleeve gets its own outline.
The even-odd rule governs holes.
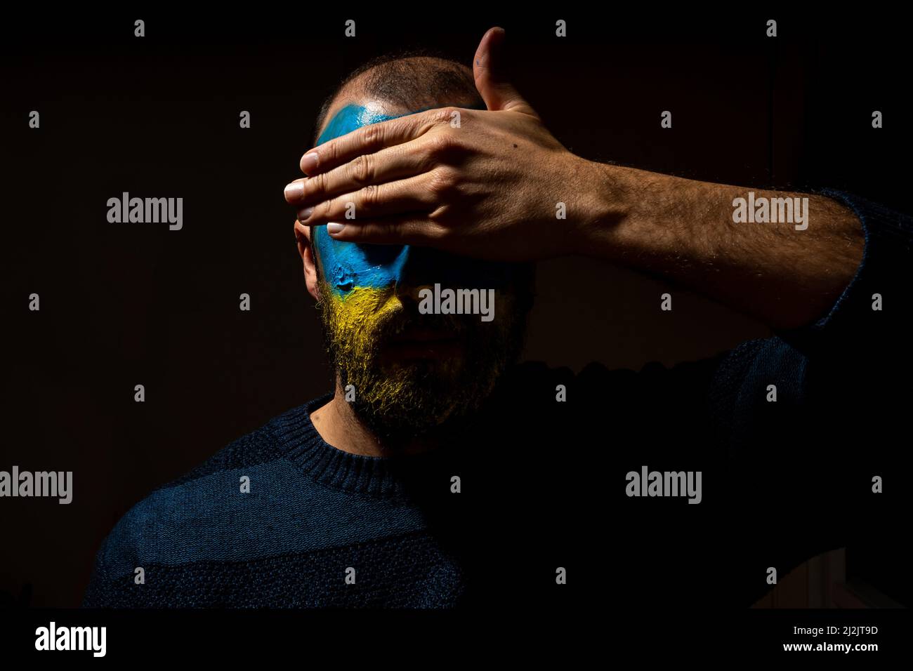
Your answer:
[[[824,316],[862,260],[862,223],[823,195],[593,162],[581,173],[589,175],[593,198],[577,235],[579,253],[656,273],[772,328]],[[744,206],[733,204],[738,198]],[[790,221],[779,221],[786,209],[773,199],[782,198],[799,199],[789,204],[799,205]],[[763,199],[773,206],[765,209]]]

